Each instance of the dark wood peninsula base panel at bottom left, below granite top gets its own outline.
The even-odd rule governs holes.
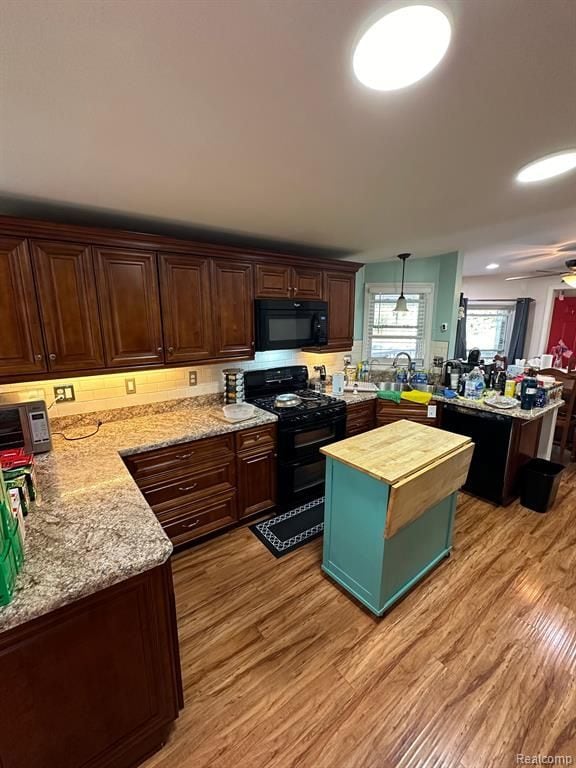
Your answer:
[[[134,768],[182,706],[170,563],[0,634],[2,768]]]

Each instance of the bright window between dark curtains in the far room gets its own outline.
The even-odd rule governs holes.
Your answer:
[[[468,302],[466,315],[466,353],[477,347],[484,360],[504,355],[508,349],[514,306]]]

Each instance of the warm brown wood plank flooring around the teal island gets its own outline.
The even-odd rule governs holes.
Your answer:
[[[246,528],[174,558],[186,705],[145,768],[576,764],[575,465],[546,515],[461,495],[452,557],[382,619],[320,561]]]

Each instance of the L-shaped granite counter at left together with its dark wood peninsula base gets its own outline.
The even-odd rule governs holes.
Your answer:
[[[172,544],[123,457],[276,421],[228,424],[214,405],[56,423],[77,438],[104,421],[36,459],[26,562],[0,608],[2,768],[132,768],[166,740],[183,705]]]

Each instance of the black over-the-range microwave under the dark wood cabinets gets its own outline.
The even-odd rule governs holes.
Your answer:
[[[322,347],[328,343],[328,304],[294,299],[256,300],[256,350]]]

